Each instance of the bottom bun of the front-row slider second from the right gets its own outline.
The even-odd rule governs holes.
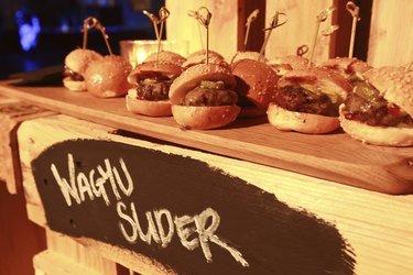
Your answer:
[[[338,118],[289,111],[272,102],[269,105],[267,116],[269,122],[276,129],[308,134],[329,133],[340,125]]]

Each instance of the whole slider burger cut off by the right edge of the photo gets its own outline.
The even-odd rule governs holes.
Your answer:
[[[413,145],[413,70],[381,67],[363,77],[340,106],[341,128],[370,144]]]

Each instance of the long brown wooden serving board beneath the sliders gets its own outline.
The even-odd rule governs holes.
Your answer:
[[[282,132],[267,118],[239,119],[218,130],[181,129],[173,118],[130,113],[124,98],[98,99],[63,87],[13,87],[0,94],[75,118],[161,141],[387,194],[413,193],[413,147],[362,144],[337,131],[326,135]]]

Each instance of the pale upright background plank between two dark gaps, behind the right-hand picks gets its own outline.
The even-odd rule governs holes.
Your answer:
[[[333,6],[333,0],[323,1],[267,1],[267,24],[274,16],[275,11],[284,12],[287,15],[287,23],[273,31],[265,56],[271,61],[278,56],[295,55],[297,47],[302,45],[312,46],[317,15],[328,7]],[[332,24],[332,16],[323,22],[319,33]],[[317,46],[314,52],[314,63],[318,64],[329,57],[330,37],[318,35]],[[308,53],[309,54],[309,53]],[[306,56],[308,56],[308,54]]]

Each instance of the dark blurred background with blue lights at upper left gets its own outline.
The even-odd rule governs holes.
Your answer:
[[[81,29],[88,16],[105,25],[115,54],[119,54],[120,40],[154,38],[152,23],[142,10],[157,14],[162,6],[162,0],[0,0],[0,79],[63,64],[72,50],[83,46]],[[23,51],[19,23],[30,23],[33,16],[39,18],[41,32],[36,46]],[[88,33],[87,47],[108,54],[96,30]]]

